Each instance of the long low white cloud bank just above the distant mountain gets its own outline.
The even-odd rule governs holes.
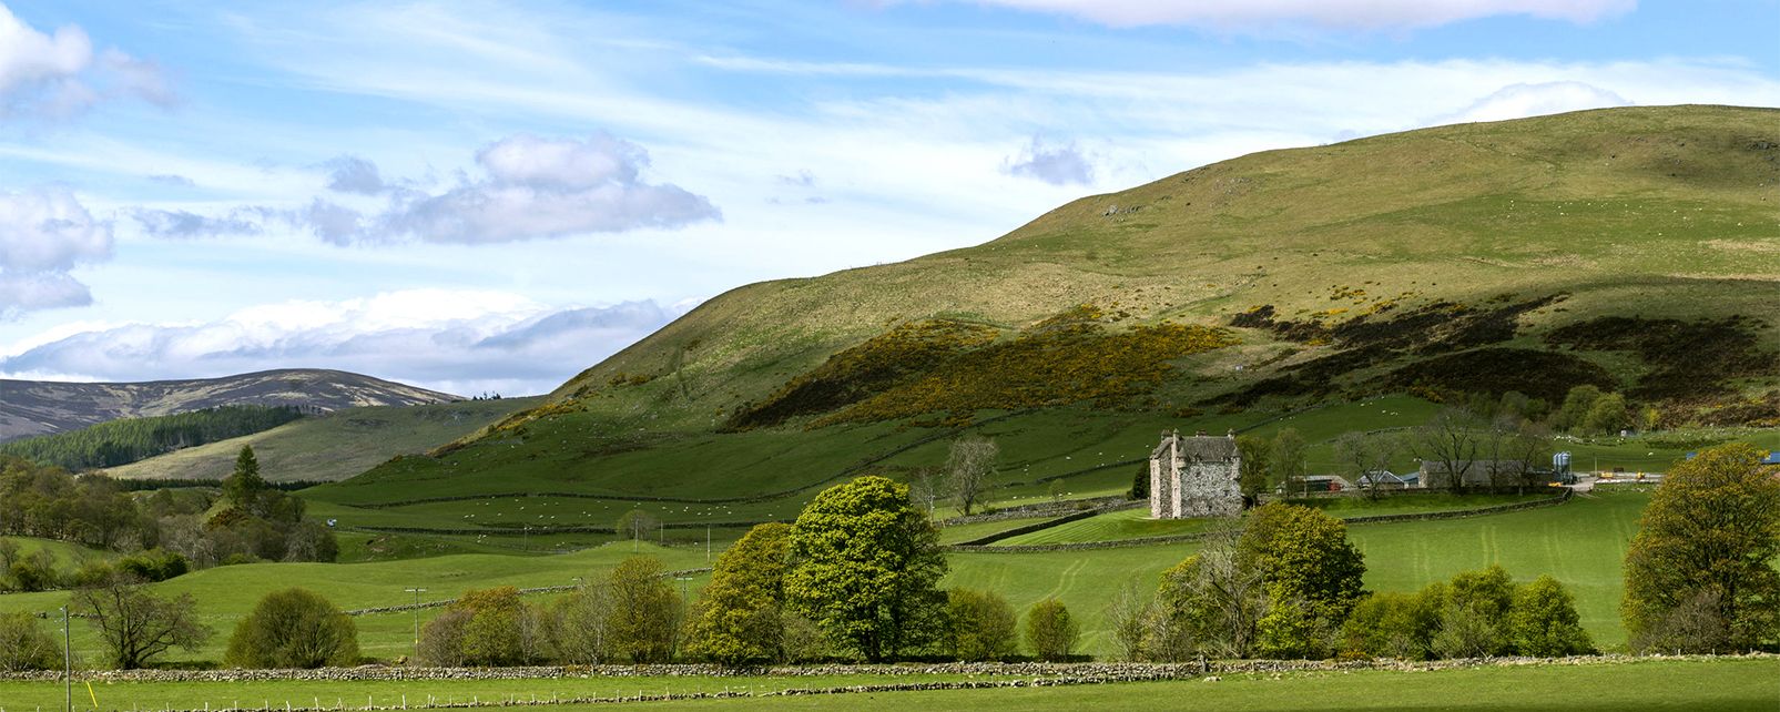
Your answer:
[[[400,290],[288,301],[196,324],[94,324],[0,347],[0,377],[82,381],[342,368],[452,393],[541,393],[692,304],[554,308],[507,292]]]

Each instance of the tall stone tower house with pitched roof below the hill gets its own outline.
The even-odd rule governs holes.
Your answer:
[[[1235,516],[1242,513],[1242,454],[1225,436],[1162,433],[1150,452],[1150,516]]]

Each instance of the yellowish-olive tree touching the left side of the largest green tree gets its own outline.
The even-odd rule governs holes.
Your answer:
[[[749,529],[717,557],[692,621],[691,650],[726,666],[785,660],[790,525]]]

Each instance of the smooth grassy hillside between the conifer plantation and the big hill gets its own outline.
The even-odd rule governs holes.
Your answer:
[[[114,466],[105,473],[123,479],[222,479],[235,466],[240,447],[253,445],[265,479],[326,482],[358,475],[395,456],[427,452],[538,402],[539,397],[349,408]]]

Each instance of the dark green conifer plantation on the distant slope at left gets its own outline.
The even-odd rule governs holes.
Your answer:
[[[0,443],[0,454],[80,472],[240,438],[297,418],[303,418],[303,411],[295,406],[217,406],[150,418],[109,420],[78,431],[14,440]]]

